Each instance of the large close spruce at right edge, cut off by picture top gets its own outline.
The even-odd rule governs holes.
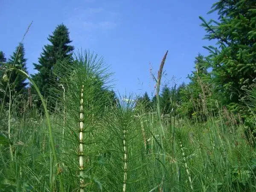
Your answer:
[[[218,101],[233,111],[242,110],[244,88],[256,78],[256,0],[219,0],[209,12],[218,12],[219,21],[203,21],[208,40],[218,47],[209,50],[212,80]]]

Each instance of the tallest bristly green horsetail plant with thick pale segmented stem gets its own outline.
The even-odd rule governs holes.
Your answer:
[[[102,58],[87,51],[84,55],[79,52],[72,63],[61,62],[61,67],[55,69],[56,74],[61,74],[58,79],[65,90],[64,131],[68,147],[63,148],[63,161],[69,174],[64,177],[70,188],[79,188],[80,192],[102,188],[95,177],[94,162],[99,150],[99,122],[108,102],[106,83],[110,82],[107,80],[111,73],[107,70]]]

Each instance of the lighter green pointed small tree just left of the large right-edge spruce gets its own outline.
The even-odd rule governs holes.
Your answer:
[[[195,71],[188,76],[188,85],[178,87],[178,109],[180,116],[203,121],[216,112],[215,95],[211,83],[211,76],[207,72],[210,61],[198,54],[195,58]]]

